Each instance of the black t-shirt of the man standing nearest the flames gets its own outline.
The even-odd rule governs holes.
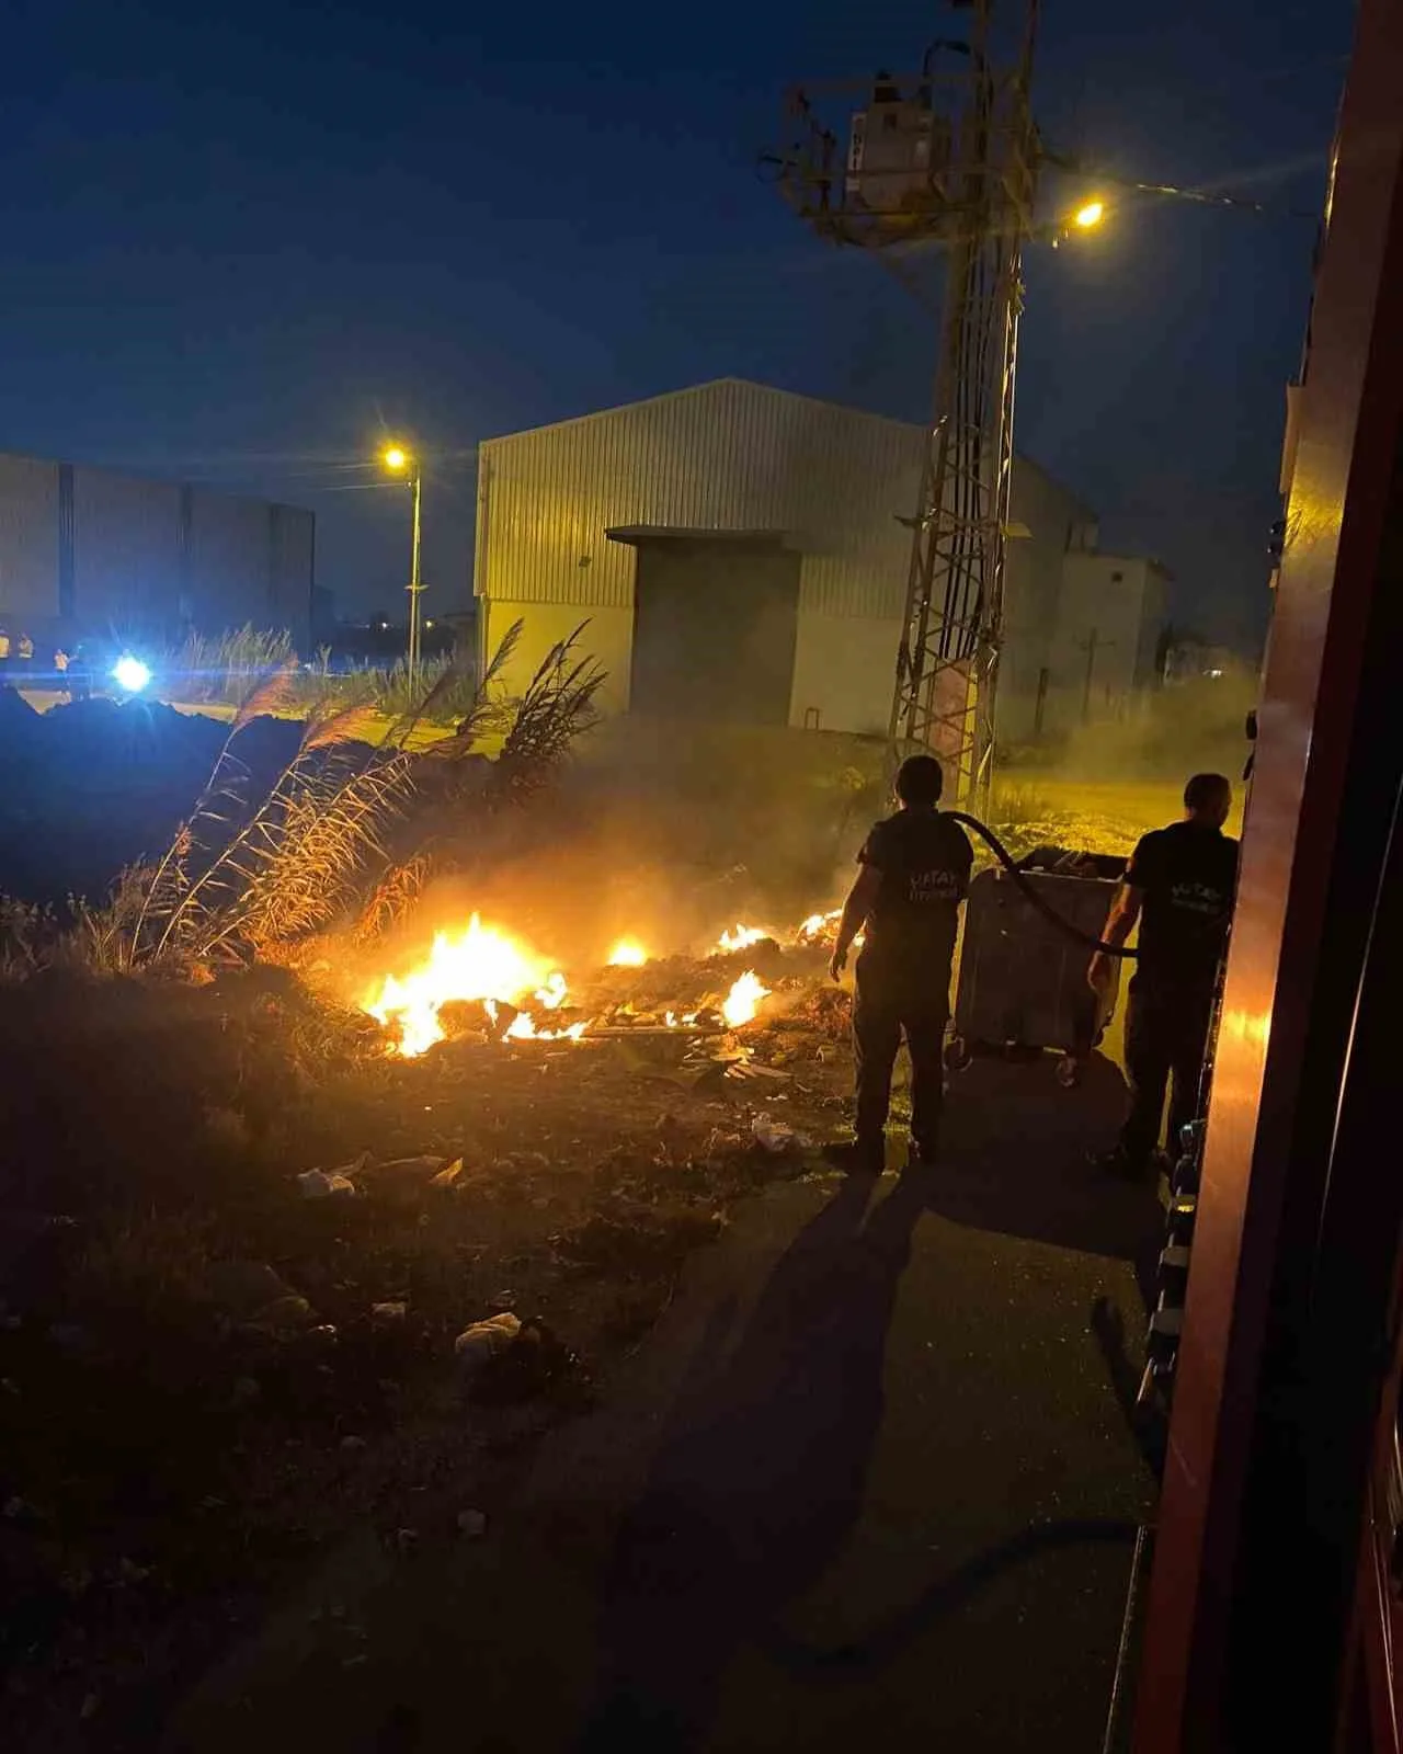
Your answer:
[[[858,854],[882,877],[863,954],[949,970],[973,859],[965,830],[938,810],[898,810],[877,823]]]

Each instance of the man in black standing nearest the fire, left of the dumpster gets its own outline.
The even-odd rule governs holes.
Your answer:
[[[951,961],[973,865],[965,830],[937,809],[942,788],[935,756],[901,763],[900,810],[866,837],[838,923],[830,963],[835,980],[847,966],[852,940],[866,933],[852,1005],[856,1137],[833,1152],[858,1173],[882,1173],[891,1073],[903,1035],[910,1054],[912,1161],[931,1163],[940,1137]]]

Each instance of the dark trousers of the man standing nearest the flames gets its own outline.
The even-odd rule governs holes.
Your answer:
[[[901,1037],[910,1054],[910,1142],[929,1163],[940,1142],[944,1103],[945,1021],[951,1012],[951,970],[898,968],[858,958],[852,1005],[852,1051],[858,1061],[858,1147],[882,1154],[891,1107],[891,1073]]]

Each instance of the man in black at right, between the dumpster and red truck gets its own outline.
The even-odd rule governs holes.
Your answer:
[[[1121,945],[1140,923],[1140,959],[1126,1005],[1129,1112],[1105,1168],[1142,1175],[1159,1152],[1164,1093],[1170,1145],[1198,1116],[1217,970],[1228,945],[1238,844],[1222,833],[1233,788],[1222,774],[1196,774],[1184,788],[1184,821],[1145,835],[1110,910],[1105,942]],[[1112,958],[1098,951],[1087,979],[1105,991]]]

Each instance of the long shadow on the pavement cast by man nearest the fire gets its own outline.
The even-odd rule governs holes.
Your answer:
[[[726,1365],[682,1396],[605,1579],[589,1754],[696,1747],[730,1658],[824,1573],[858,1519],[931,1184],[901,1177],[863,1224],[870,1189],[847,1182],[800,1231]]]

